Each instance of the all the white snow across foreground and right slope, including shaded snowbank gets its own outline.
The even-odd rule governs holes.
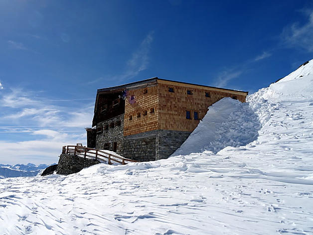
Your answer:
[[[312,95],[310,61],[209,107],[169,159],[3,179],[0,234],[313,234]]]

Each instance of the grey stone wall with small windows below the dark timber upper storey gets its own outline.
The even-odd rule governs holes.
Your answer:
[[[116,124],[121,122],[120,126]],[[114,123],[114,127],[110,125]],[[105,127],[109,126],[109,129],[106,130]],[[124,154],[124,114],[117,116],[115,118],[109,119],[104,122],[97,124],[97,130],[101,128],[101,132],[97,132],[96,136],[96,149],[104,149],[104,146],[108,144],[108,150],[113,151],[113,143],[117,142],[117,154],[123,156]]]

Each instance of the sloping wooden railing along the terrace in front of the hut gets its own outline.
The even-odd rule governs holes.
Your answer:
[[[112,165],[114,162],[120,163],[122,165],[126,165],[129,162],[138,162],[132,159],[123,158],[115,154],[108,153],[105,150],[87,148],[82,146],[82,144],[63,146],[62,154],[73,154],[84,158],[88,157],[95,160],[105,160],[108,161],[109,165]]]

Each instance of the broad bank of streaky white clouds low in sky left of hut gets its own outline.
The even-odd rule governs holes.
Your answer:
[[[66,103],[73,99],[49,101],[36,93],[24,89],[0,93],[0,139],[8,133],[16,136],[12,141],[0,141],[1,156],[10,156],[2,162],[52,163],[62,145],[86,143],[84,128],[91,126],[93,102],[74,106]]]

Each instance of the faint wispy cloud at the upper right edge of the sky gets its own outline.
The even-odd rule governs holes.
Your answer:
[[[289,47],[302,47],[307,51],[313,51],[313,10],[304,11],[308,14],[308,21],[304,24],[298,22],[286,26],[281,38]]]

